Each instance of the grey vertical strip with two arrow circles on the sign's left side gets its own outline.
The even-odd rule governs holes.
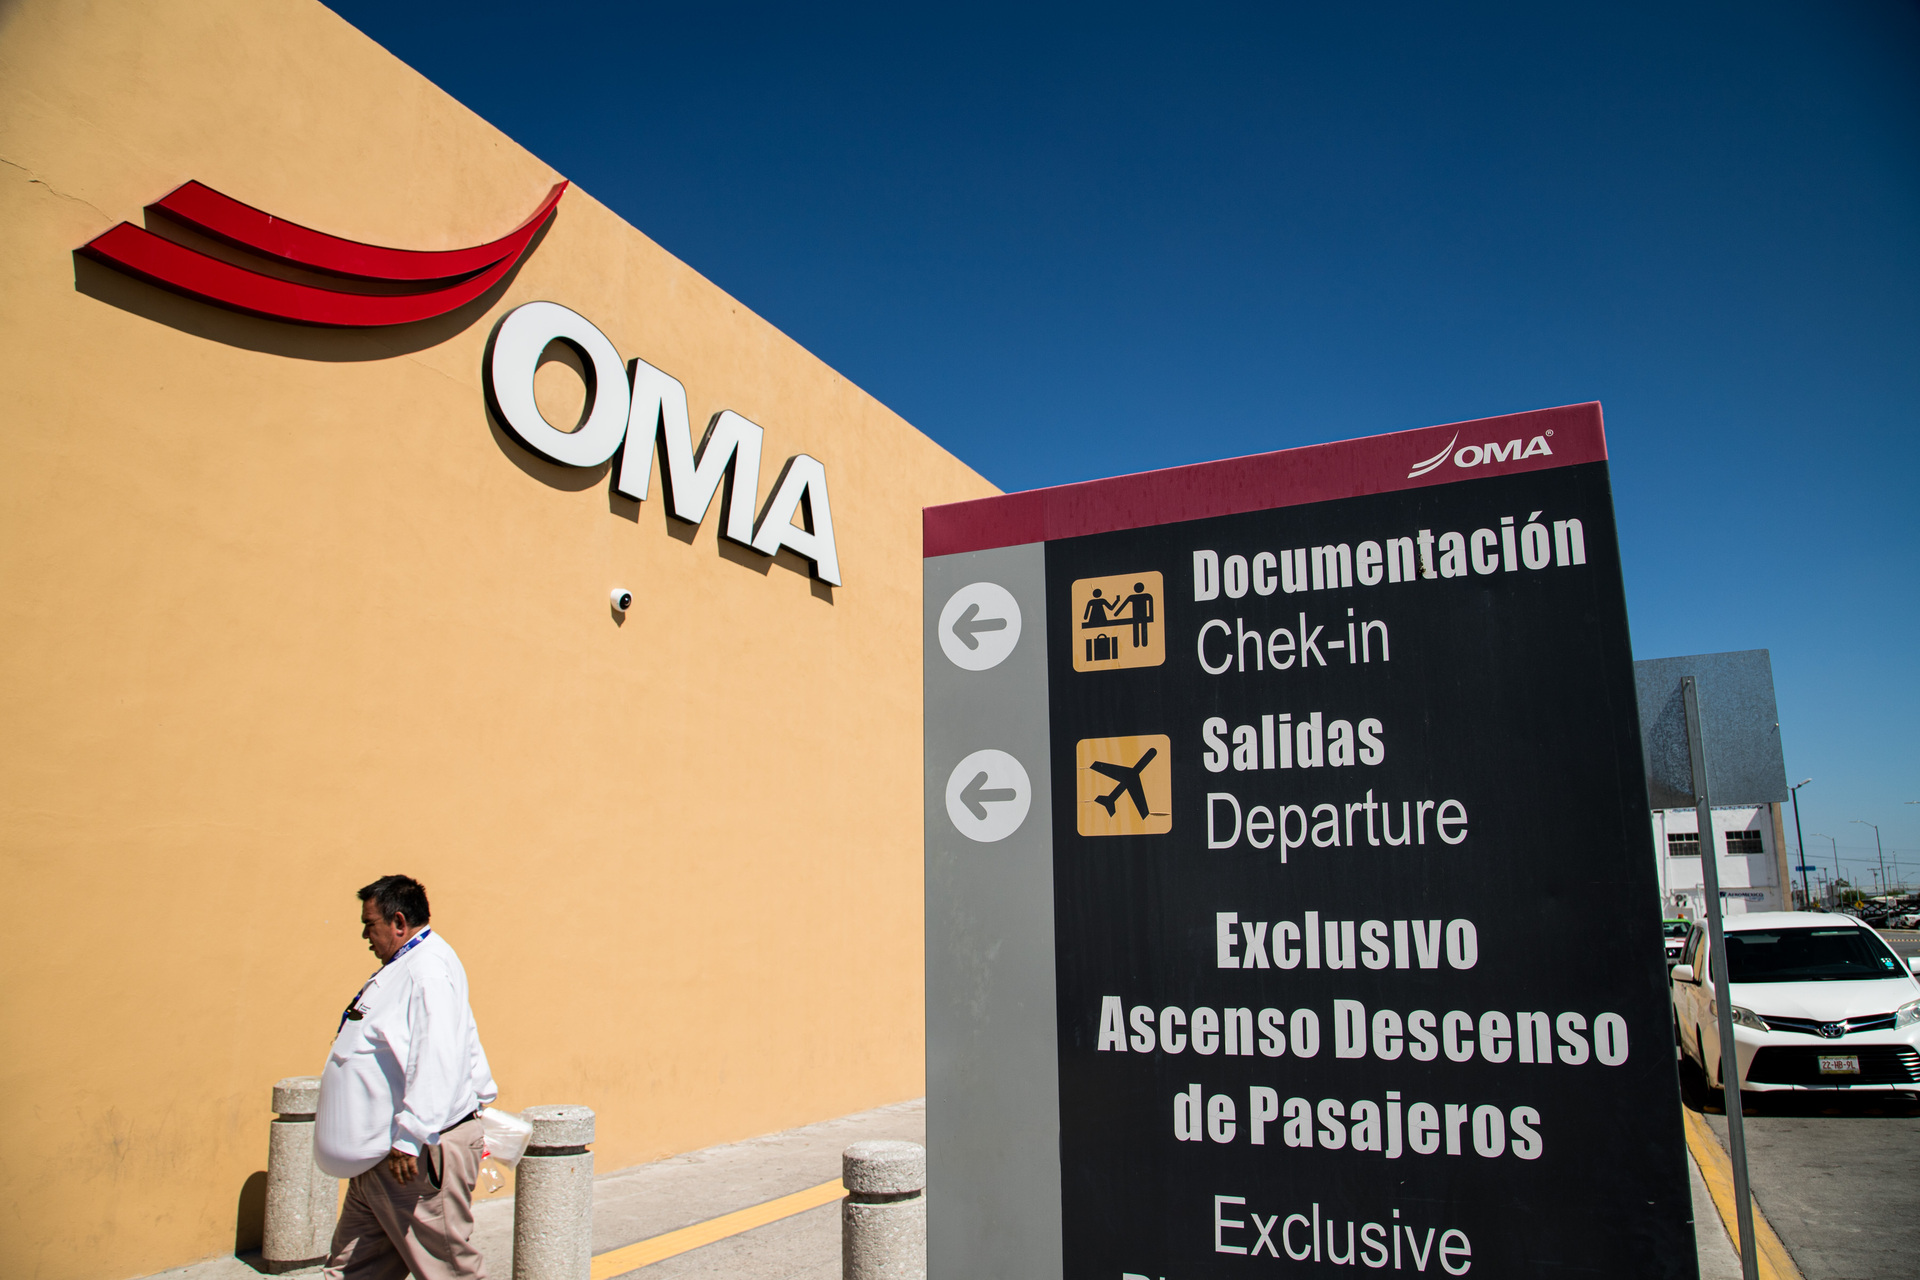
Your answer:
[[[1056,1280],[1060,1069],[1046,704],[1046,557],[1039,543],[925,560],[927,1276]],[[1021,633],[995,668],[941,649],[954,591],[993,581]],[[981,614],[985,616],[985,614]],[[1027,770],[1031,806],[1006,839],[964,837],[947,814],[975,750]]]

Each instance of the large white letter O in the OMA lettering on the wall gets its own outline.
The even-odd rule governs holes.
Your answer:
[[[564,342],[588,370],[588,420],[563,432],[534,403],[534,370],[545,349]],[[486,391],[499,424],[543,459],[563,466],[599,466],[626,439],[630,391],[626,367],[607,334],[553,301],[530,301],[507,313],[486,355]]]

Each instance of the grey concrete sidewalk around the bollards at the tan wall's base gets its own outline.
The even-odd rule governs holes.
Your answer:
[[[829,1182],[841,1173],[841,1151],[870,1138],[925,1142],[925,1100],[603,1173],[593,1180],[593,1253],[607,1253]],[[507,1280],[513,1274],[513,1197],[480,1201],[474,1219],[474,1244],[486,1255],[488,1276]],[[259,1280],[257,1263],[257,1253],[215,1257],[159,1272],[150,1280]],[[319,1268],[288,1274],[317,1276]],[[682,1276],[839,1280],[839,1201],[626,1274],[645,1280]]]

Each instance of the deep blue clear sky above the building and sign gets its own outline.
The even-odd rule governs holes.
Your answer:
[[[332,8],[1006,489],[1601,401],[1920,883],[1920,6]]]

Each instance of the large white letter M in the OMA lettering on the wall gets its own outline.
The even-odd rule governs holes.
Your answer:
[[[753,545],[753,505],[760,493],[760,441],[766,432],[732,409],[716,413],[693,449],[693,428],[687,422],[687,390],[672,374],[647,361],[634,361],[634,409],[626,420],[626,445],[620,451],[620,476],[614,487],[636,499],[647,499],[647,476],[653,470],[653,445],[659,441],[660,482],[674,518],[699,524],[712,507],[714,493],[726,486],[720,535],[728,541]]]

